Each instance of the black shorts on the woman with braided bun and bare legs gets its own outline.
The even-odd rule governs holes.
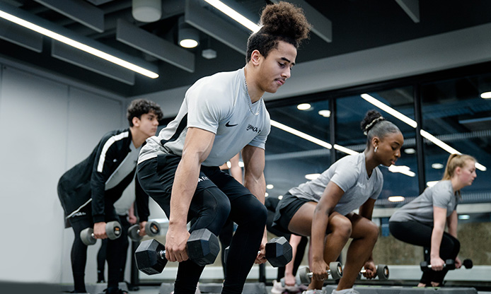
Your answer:
[[[299,198],[297,196],[291,195],[289,192],[284,194],[281,201],[276,208],[275,218],[273,218],[272,228],[280,230],[284,233],[291,233],[288,230],[288,225],[291,218],[295,215],[299,208],[306,204],[307,202],[312,202],[308,199]]]

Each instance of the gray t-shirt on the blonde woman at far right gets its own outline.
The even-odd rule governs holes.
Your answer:
[[[412,220],[433,225],[433,206],[445,208],[447,218],[456,210],[457,196],[450,180],[437,182],[433,187],[424,189],[420,196],[395,211],[389,221]]]

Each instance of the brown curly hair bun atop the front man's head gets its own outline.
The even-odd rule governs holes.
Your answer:
[[[284,1],[266,6],[262,11],[261,24],[261,30],[265,33],[291,37],[297,43],[308,38],[311,30],[302,8]]]

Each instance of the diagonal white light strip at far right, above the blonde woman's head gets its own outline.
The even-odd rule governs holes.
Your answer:
[[[379,107],[381,110],[387,112],[388,114],[392,114],[395,118],[399,119],[402,122],[405,122],[406,124],[409,124],[411,127],[416,128],[417,127],[417,122],[415,122],[413,119],[410,119],[409,117],[406,117],[404,114],[398,112],[397,110],[394,110],[392,107],[383,104],[383,102],[380,102],[376,98],[372,97],[371,95],[368,95],[366,93],[361,95],[364,100],[367,102],[375,105],[376,107]],[[421,136],[424,138],[428,139],[435,145],[439,146],[442,148],[444,151],[450,153],[450,154],[462,154],[458,152],[455,148],[452,148],[448,144],[444,143],[444,141],[441,141],[437,139],[437,137],[433,136],[432,134],[429,134],[427,131],[424,131],[424,129],[420,130]],[[481,171],[487,170],[487,168],[484,165],[481,165],[480,163],[475,163],[475,168]]]

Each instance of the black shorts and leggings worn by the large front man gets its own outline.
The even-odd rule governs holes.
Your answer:
[[[167,216],[170,215],[171,190],[175,170],[180,162],[177,155],[159,155],[137,167],[141,187]],[[242,293],[245,279],[254,264],[264,234],[267,211],[264,205],[219,167],[201,167],[197,189],[190,204],[187,221],[196,218],[190,232],[207,228],[219,235],[229,218],[238,225],[232,237],[226,260],[226,278],[221,293]],[[174,293],[194,294],[204,266],[191,260],[178,266]]]

